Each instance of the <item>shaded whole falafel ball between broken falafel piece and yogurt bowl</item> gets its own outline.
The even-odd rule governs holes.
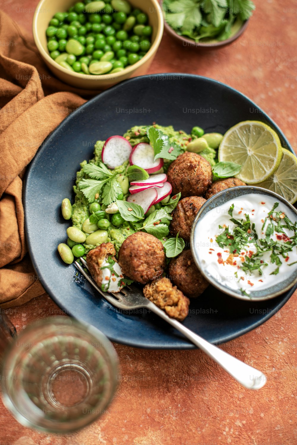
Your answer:
[[[201,295],[209,285],[197,269],[190,250],[181,252],[170,261],[168,274],[171,281],[190,298]]]

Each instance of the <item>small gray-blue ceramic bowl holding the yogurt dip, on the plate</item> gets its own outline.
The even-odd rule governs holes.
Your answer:
[[[270,191],[263,189],[262,187],[255,187],[255,186],[237,186],[237,187],[231,187],[227,190],[222,190],[221,192],[213,195],[211,198],[209,198],[201,207],[198,214],[196,215],[196,218],[193,222],[192,230],[191,230],[191,251],[194,258],[194,261],[196,263],[196,266],[201,271],[201,274],[207,279],[214,287],[216,287],[218,290],[224,292],[225,294],[231,295],[232,297],[241,299],[241,300],[248,300],[248,301],[261,301],[261,300],[268,300],[274,297],[277,297],[277,295],[283,294],[285,291],[288,291],[295,283],[297,283],[297,269],[292,272],[289,277],[284,279],[283,281],[273,284],[273,286],[267,287],[266,289],[261,289],[257,291],[250,291],[250,295],[242,295],[241,292],[238,290],[230,289],[227,286],[222,285],[215,279],[212,275],[209,275],[205,273],[203,268],[200,264],[200,259],[197,255],[197,251],[194,249],[194,231],[195,227],[198,223],[198,220],[201,220],[205,216],[209,210],[214,209],[215,207],[221,206],[222,204],[225,204],[225,202],[230,201],[234,198],[238,198],[239,196],[243,196],[245,194],[262,194],[271,196],[276,199],[276,201],[281,202],[283,206],[287,207],[289,210],[293,212],[296,216],[297,220],[297,210],[295,207],[293,207],[291,204],[289,204],[288,201],[286,201],[284,198],[282,198],[280,195]]]

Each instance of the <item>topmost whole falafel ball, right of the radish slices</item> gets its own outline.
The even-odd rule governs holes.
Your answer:
[[[173,193],[181,192],[181,197],[202,196],[212,183],[210,163],[197,153],[185,152],[177,156],[167,171]]]

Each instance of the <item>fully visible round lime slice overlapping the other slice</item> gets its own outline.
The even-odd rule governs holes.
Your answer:
[[[219,162],[241,165],[236,175],[246,184],[265,181],[281,162],[281,141],[268,125],[258,121],[239,122],[230,128],[220,144]]]

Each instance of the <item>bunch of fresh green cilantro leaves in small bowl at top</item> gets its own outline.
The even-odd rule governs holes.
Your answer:
[[[198,42],[228,39],[235,21],[248,20],[255,5],[251,0],[164,0],[163,9],[177,34]]]

